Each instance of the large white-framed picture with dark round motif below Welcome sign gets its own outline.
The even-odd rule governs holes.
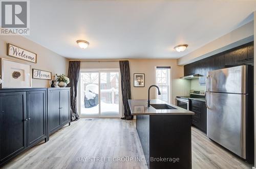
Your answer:
[[[30,65],[1,58],[1,88],[32,87]]]

